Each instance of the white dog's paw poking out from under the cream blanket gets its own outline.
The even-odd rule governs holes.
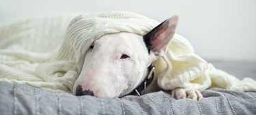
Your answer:
[[[203,95],[195,88],[175,88],[171,91],[171,96],[176,99],[194,99],[200,100],[203,98]]]

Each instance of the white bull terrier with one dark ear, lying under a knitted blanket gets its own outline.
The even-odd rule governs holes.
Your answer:
[[[141,91],[159,91],[152,63],[165,55],[177,21],[177,16],[173,16],[143,36],[122,32],[97,39],[85,54],[73,94],[124,97],[134,93],[141,95]],[[202,98],[194,88],[175,88],[171,94],[177,99]]]

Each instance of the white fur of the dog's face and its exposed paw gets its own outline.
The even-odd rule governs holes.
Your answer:
[[[120,59],[122,54],[130,56]],[[73,93],[80,84],[83,90],[94,92],[95,97],[122,97],[130,93],[147,75],[147,67],[156,60],[148,53],[140,35],[114,33],[100,37],[85,55],[85,62]],[[195,89],[176,88],[173,97],[177,99],[201,99]]]

